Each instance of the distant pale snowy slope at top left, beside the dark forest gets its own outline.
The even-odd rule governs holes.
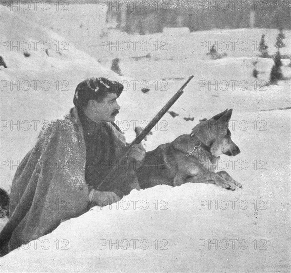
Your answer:
[[[80,1],[79,1],[80,2]],[[82,2],[82,1],[81,1]],[[25,10],[27,9],[27,10]],[[52,2],[49,5],[39,1],[31,8],[3,7],[4,11],[17,13],[25,20],[32,20],[65,37],[69,44],[86,51],[89,45],[97,44],[98,37],[105,31],[107,7],[98,4],[78,4],[69,1]],[[17,11],[17,12],[16,12]]]

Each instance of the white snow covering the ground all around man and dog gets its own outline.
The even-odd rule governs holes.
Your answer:
[[[97,13],[92,6],[88,9]],[[134,190],[117,204],[102,209],[94,207],[78,218],[61,223],[39,241],[0,258],[1,272],[290,271],[290,67],[283,67],[289,79],[278,85],[263,86],[273,62],[257,57],[258,52],[252,47],[247,51],[227,51],[227,57],[220,60],[206,59],[208,47],[198,50],[199,41],[245,40],[251,45],[256,40],[259,43],[261,34],[266,34],[271,54],[275,52],[272,44],[278,31],[210,30],[181,33],[178,37],[172,36],[170,30],[143,36],[107,32],[106,41],[148,41],[151,50],[110,51],[107,48],[100,52],[99,43],[90,40],[93,39],[90,33],[83,34],[90,40],[88,47],[77,35],[81,30],[75,25],[86,14],[78,15],[74,27],[61,27],[61,19],[68,21],[72,14],[77,16],[77,11],[78,5],[70,6],[69,13],[62,18],[57,18],[53,12],[20,16],[17,12],[1,11],[1,37],[5,37],[2,40],[35,39],[53,44],[56,40],[67,41],[68,35],[75,44],[68,40],[69,51],[61,52],[62,55],[54,47],[49,56],[39,49],[32,51],[28,58],[22,51],[6,48],[1,52],[8,66],[8,69],[1,67],[1,80],[14,83],[15,79],[48,80],[51,83],[47,91],[42,88],[17,91],[15,87],[11,91],[10,85],[1,90],[1,121],[14,124],[18,120],[40,121],[36,130],[33,126],[30,130],[11,130],[10,124],[1,128],[1,162],[21,160],[33,146],[40,123],[65,114],[72,106],[76,85],[86,77],[106,76],[125,83],[138,80],[136,88],[130,82],[128,90],[119,98],[122,109],[116,121],[130,142],[135,137],[131,121],[135,120],[137,126],[142,121],[150,121],[193,74],[194,79],[171,108],[179,116],[173,118],[166,114],[144,145],[152,150],[190,133],[199,119],[233,108],[230,130],[241,153],[234,158],[222,156],[218,170],[225,169],[243,188],[229,192],[214,185],[185,184],[175,188],[162,185]],[[98,14],[104,18],[102,12]],[[41,16],[45,16],[44,22]],[[10,27],[12,24],[14,27]],[[105,23],[96,31],[99,41],[104,27]],[[284,30],[284,33],[286,48],[281,54],[290,54],[291,32]],[[156,51],[155,41],[159,45],[166,41],[168,51]],[[150,58],[138,61],[131,58],[148,53]],[[115,57],[121,58],[120,67],[125,77],[109,70]],[[252,77],[254,61],[258,61],[258,79]],[[140,91],[142,80],[149,82],[148,93]],[[163,80],[165,88],[162,88]],[[68,90],[57,90],[53,84],[57,81],[68,82]],[[209,87],[208,81],[211,84],[226,81],[229,87],[227,90],[219,85]],[[231,81],[236,81],[233,86]],[[248,84],[246,90],[240,85],[242,81]],[[205,82],[207,85],[203,86]],[[280,110],[284,108],[289,109]],[[183,120],[188,116],[195,117],[194,121]],[[142,127],[145,125],[146,122]],[[15,171],[16,167],[10,163],[1,166],[1,188],[9,191]],[[225,208],[225,205],[229,206]],[[3,226],[5,220],[1,221]],[[119,243],[124,240],[118,249],[114,245],[117,240]],[[137,240],[136,247],[134,240]],[[146,243],[149,244],[147,249]],[[122,249],[127,244],[128,249]]]

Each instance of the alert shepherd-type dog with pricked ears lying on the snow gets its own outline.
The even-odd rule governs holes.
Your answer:
[[[242,188],[226,171],[214,172],[221,154],[235,156],[239,147],[232,141],[228,123],[232,109],[209,120],[203,119],[190,135],[181,135],[173,142],[147,152],[136,170],[141,189],[166,184],[212,183],[234,191]]]

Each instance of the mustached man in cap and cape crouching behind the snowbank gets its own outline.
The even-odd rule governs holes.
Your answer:
[[[131,167],[117,166],[110,185],[102,184],[127,149],[114,124],[122,91],[123,85],[116,81],[86,79],[75,90],[75,107],[69,114],[41,131],[12,182],[10,218],[0,233],[6,252],[51,232],[61,221],[78,217],[93,205],[117,202],[132,184],[138,188]],[[142,146],[133,146],[128,166],[144,157]]]

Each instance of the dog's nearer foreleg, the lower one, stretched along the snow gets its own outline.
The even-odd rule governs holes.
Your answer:
[[[203,172],[200,174],[197,174],[195,176],[192,177],[188,177],[184,180],[183,183],[211,183],[211,184],[215,184],[218,185],[222,188],[225,188],[227,190],[231,190],[234,191],[236,189],[236,185],[223,179],[221,176],[219,176],[218,174],[214,173],[214,172]],[[180,185],[183,184],[180,182]],[[176,186],[174,184],[174,186]]]

